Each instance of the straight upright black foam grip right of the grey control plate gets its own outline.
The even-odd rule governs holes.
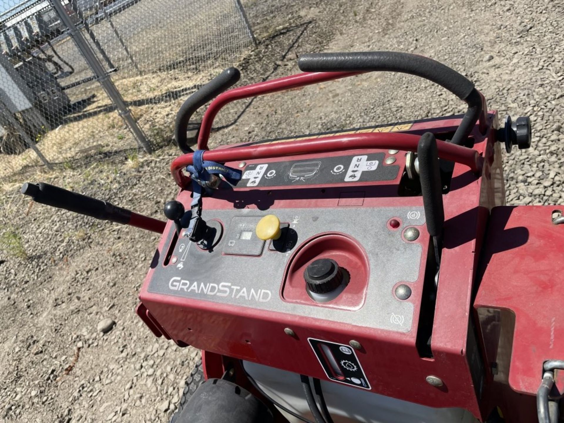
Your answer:
[[[433,134],[426,132],[419,139],[417,160],[425,221],[431,236],[440,236],[444,224],[443,189],[438,159],[437,140]]]

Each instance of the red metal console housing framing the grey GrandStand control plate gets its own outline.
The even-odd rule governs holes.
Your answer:
[[[495,112],[491,116],[495,117]],[[459,122],[460,118],[416,122],[411,130],[417,133],[426,130],[447,133]],[[496,124],[496,120],[491,119],[491,123]],[[378,138],[374,135],[384,135],[384,137]],[[472,170],[468,169],[469,164],[456,164],[451,192],[444,197],[447,219],[445,248],[433,325],[431,349],[434,358],[432,359],[421,358],[415,347],[422,271],[420,271],[420,279],[413,284],[415,289],[413,289],[412,297],[409,298],[409,301],[412,301],[415,306],[415,314],[412,329],[407,333],[371,329],[338,321],[303,318],[303,316],[267,312],[250,307],[219,306],[213,302],[149,293],[147,287],[153,275],[153,269],[149,271],[139,297],[158,324],[166,328],[166,332],[179,345],[191,344],[215,354],[259,362],[326,379],[323,369],[316,363],[315,356],[307,345],[307,338],[340,343],[348,343],[354,339],[363,346],[363,349],[358,351],[358,355],[371,382],[372,391],[431,407],[466,408],[475,416],[483,416],[490,410],[481,409],[477,394],[481,387],[474,386],[470,372],[470,360],[475,360],[477,357],[468,356],[468,325],[471,317],[470,306],[477,257],[481,248],[488,211],[492,206],[503,204],[504,192],[500,149],[499,146],[496,146],[495,138],[491,136],[491,133],[487,133],[487,136],[480,135],[478,127],[475,127],[473,135],[476,142],[475,150],[481,155],[480,157],[486,157],[486,160],[483,161],[482,178],[477,177]],[[343,146],[346,140],[366,139],[367,144],[362,144],[363,154],[377,151],[372,149],[374,144],[371,149],[367,149],[368,143],[372,143],[375,139],[390,140],[390,144],[385,144],[385,148],[397,147],[396,138],[406,139],[408,142],[402,144],[402,147],[409,146],[412,149],[416,146],[416,143],[412,146],[412,137],[415,140],[418,138],[408,134],[376,133],[356,134],[358,138],[354,136],[346,138],[347,136],[350,135],[345,135],[344,138],[336,137],[340,138],[339,141],[336,141],[341,146],[340,148],[350,148],[350,146]],[[320,145],[328,145],[324,140],[320,142]],[[293,143],[295,142],[287,144]],[[440,146],[439,151],[440,148],[443,148],[443,154],[444,146],[447,146],[447,149],[456,147],[447,143],[440,143]],[[259,147],[248,148],[256,152]],[[275,154],[273,147],[284,147],[284,143],[265,146],[265,156],[268,151]],[[204,156],[206,160],[215,161],[222,161],[218,158],[220,153],[221,157],[235,157],[233,160],[237,161],[227,162],[228,166],[235,167],[238,160],[243,160],[243,157],[248,158],[248,156],[236,156],[238,154],[236,152],[243,148],[218,149],[206,152]],[[287,150],[284,151],[287,151],[289,156],[284,159],[273,158],[267,161],[292,160],[297,157],[291,156],[292,153],[301,152],[295,151],[293,146],[286,148]],[[350,153],[349,148],[347,148],[347,154]],[[461,149],[462,155],[466,155],[467,150],[472,152],[472,156],[475,154],[464,147],[456,149]],[[309,150],[304,149],[303,151]],[[339,153],[318,153],[314,157],[335,155]],[[403,166],[404,155],[399,153],[395,156],[398,158],[395,164]],[[264,156],[261,153],[261,156],[258,157]],[[299,156],[300,159],[304,157],[307,156]],[[459,158],[453,155],[448,157],[451,160]],[[180,157],[175,161],[174,168],[179,169],[180,166],[186,166],[189,160],[191,160],[191,155]],[[255,162],[259,161],[249,160],[248,164]],[[265,162],[265,160],[260,162]],[[421,197],[398,196],[399,179],[400,175],[396,180],[383,183],[359,182],[343,185],[346,185],[349,191],[352,191],[354,187],[362,187],[362,190],[367,192],[362,207],[422,206]],[[289,188],[258,187],[251,190],[242,187],[233,190],[218,190],[213,197],[203,199],[203,206],[206,210],[260,208],[261,210],[269,209],[272,213],[276,213],[278,208],[337,207],[338,193],[342,191],[343,186],[312,184]],[[185,206],[189,205],[190,191],[181,190],[178,200]],[[173,230],[173,224],[169,222],[165,234],[171,230]],[[421,243],[424,255],[426,255],[429,235],[424,226],[419,227],[419,230],[421,236],[417,242]],[[162,237],[157,254],[164,251],[165,239],[166,236]],[[423,261],[421,269],[424,266]],[[285,327],[291,327],[297,337],[292,338],[285,334]],[[217,373],[214,373],[214,376],[215,374]],[[437,388],[429,385],[425,381],[425,377],[429,374],[442,378],[444,386]]]

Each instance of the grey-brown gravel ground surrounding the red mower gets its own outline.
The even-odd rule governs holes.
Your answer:
[[[430,56],[465,73],[502,117],[531,116],[534,148],[505,157],[508,202],[562,204],[561,1],[244,4],[259,46],[241,64],[243,82],[297,72],[302,52]],[[246,104],[221,113],[227,127],[212,135],[214,146],[464,110],[440,87],[386,73],[265,96],[241,113]],[[176,191],[175,155],[93,156],[34,179],[161,217]],[[0,419],[168,421],[199,351],[156,339],[133,312],[158,237],[32,205],[15,187],[2,201]]]

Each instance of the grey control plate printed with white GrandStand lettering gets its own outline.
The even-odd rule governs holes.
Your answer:
[[[258,256],[223,253],[226,244],[233,247],[253,243],[256,234],[253,224],[249,223],[254,222],[255,226],[264,215],[271,213],[276,213],[281,222],[288,223],[295,231],[297,243],[294,248],[287,252],[263,248]],[[161,257],[149,283],[149,292],[211,301],[218,305],[227,303],[311,316],[362,327],[410,331],[413,304],[395,298],[393,288],[400,282],[413,283],[419,277],[422,245],[405,241],[401,234],[406,226],[425,223],[421,207],[204,210],[202,217],[227,223],[226,235],[212,252],[202,250],[181,237],[173,252],[177,261],[163,266],[164,258]],[[387,221],[393,217],[403,222],[399,230],[387,228]],[[237,218],[236,222],[244,218],[245,231],[252,231],[249,239],[230,239],[229,234],[237,232],[230,227],[233,218]],[[284,301],[280,296],[284,271],[294,250],[303,241],[329,229],[354,239],[367,255],[368,290],[364,304],[358,310],[293,303]],[[167,245],[172,235],[173,231],[170,231]]]

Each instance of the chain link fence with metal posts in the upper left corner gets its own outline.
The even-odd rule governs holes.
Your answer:
[[[0,0],[0,179],[169,143],[254,43],[239,0]]]

